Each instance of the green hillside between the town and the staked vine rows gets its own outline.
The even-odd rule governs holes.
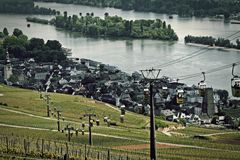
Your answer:
[[[57,129],[56,118],[46,117],[46,102],[40,99],[36,91],[18,89],[0,85],[0,135],[14,135],[17,137],[43,138],[56,141],[66,141],[64,133],[51,131]],[[52,107],[61,109],[65,121],[61,122],[61,127],[67,124],[75,128],[81,128],[81,123],[87,119],[79,119],[85,113],[95,113],[100,119],[100,126],[94,126],[93,144],[94,146],[104,146],[114,148],[116,146],[148,144],[149,130],[146,126],[149,117],[127,112],[125,123],[119,122],[120,111],[101,102],[86,99],[80,96],[70,96],[50,93]],[[17,112],[15,112],[17,111]],[[117,122],[117,126],[107,127],[103,123],[103,117],[108,116],[112,121]],[[165,122],[168,125],[175,123]],[[1,124],[17,125],[34,128],[13,128],[1,126]],[[36,130],[40,128],[40,130]],[[45,130],[44,130],[45,129]],[[85,128],[87,133],[88,128]],[[240,132],[231,130],[207,129],[190,126],[185,129],[176,130],[184,136],[173,134],[167,136],[160,131],[156,132],[157,142],[180,144],[181,147],[160,148],[158,157],[161,159],[239,159],[240,157]],[[218,135],[217,133],[224,133]],[[208,135],[206,139],[194,138],[195,135]],[[79,133],[76,137],[73,134],[72,142],[77,144],[87,144],[88,134],[84,136]],[[187,145],[187,146],[185,146]],[[187,148],[186,148],[187,147]],[[149,150],[136,150],[129,152],[131,155],[149,155]],[[120,151],[118,151],[120,152]],[[195,156],[197,155],[197,156]]]

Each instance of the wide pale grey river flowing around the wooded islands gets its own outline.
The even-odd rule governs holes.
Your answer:
[[[184,44],[186,35],[207,35],[227,37],[240,30],[240,25],[224,23],[222,20],[209,18],[181,18],[174,15],[169,19],[167,15],[122,11],[114,8],[97,8],[82,5],[66,5],[56,3],[36,3],[39,6],[53,8],[69,15],[94,12],[95,16],[103,17],[105,12],[118,15],[125,19],[162,19],[171,24],[179,36],[178,42],[164,42],[157,40],[121,40],[81,37],[76,33],[57,30],[54,26],[31,23],[27,28],[25,18],[28,15],[0,14],[0,30],[7,27],[9,32],[14,28],[21,29],[29,38],[39,37],[44,40],[59,40],[64,47],[72,49],[73,57],[89,58],[106,64],[115,65],[122,71],[132,73],[140,69],[158,67],[163,63],[184,57],[199,51],[200,46]],[[37,16],[51,19],[51,16]],[[238,37],[240,33],[231,37]],[[230,39],[231,39],[230,38]],[[179,77],[183,75],[208,71],[233,62],[240,61],[240,51],[210,49],[204,54],[195,56],[186,61],[163,68],[161,75]],[[236,68],[240,74],[240,66]],[[202,77],[184,80],[189,85],[197,84]],[[231,69],[225,69],[206,75],[208,86],[230,91]]]

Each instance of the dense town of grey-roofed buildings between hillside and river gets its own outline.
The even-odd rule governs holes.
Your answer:
[[[8,85],[82,95],[149,115],[149,83],[138,72],[129,75],[114,66],[74,58],[62,64],[36,63],[34,59],[10,61],[7,54],[0,63],[0,79]],[[154,83],[155,114],[169,121],[209,123],[220,104],[220,96],[212,88],[189,87],[169,77]]]

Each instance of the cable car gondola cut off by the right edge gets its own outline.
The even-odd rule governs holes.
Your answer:
[[[240,97],[240,77],[234,74],[234,68],[236,64],[233,64],[232,67],[232,75],[233,78],[231,79],[232,82],[232,95],[234,97]]]

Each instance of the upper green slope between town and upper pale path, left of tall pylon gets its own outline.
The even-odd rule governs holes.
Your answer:
[[[1,103],[6,103],[8,108],[18,111],[31,113],[40,116],[46,116],[46,102],[40,99],[40,94],[36,91],[0,86]],[[99,120],[103,122],[103,117],[108,116],[112,121],[118,122],[121,126],[142,128],[148,123],[148,117],[127,112],[125,115],[125,123],[119,123],[120,111],[113,109],[104,103],[80,96],[71,96],[63,94],[51,95],[52,109],[54,107],[62,111],[63,116],[68,120],[80,121],[79,118],[85,113],[94,113]]]

